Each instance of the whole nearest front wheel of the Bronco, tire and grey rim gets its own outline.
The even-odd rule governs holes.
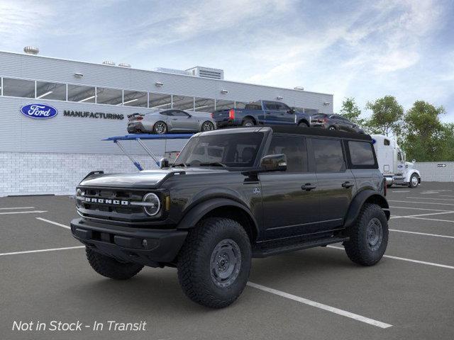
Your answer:
[[[179,284],[200,305],[227,307],[243,292],[250,264],[250,242],[243,227],[228,218],[210,217],[189,231],[179,252]]]

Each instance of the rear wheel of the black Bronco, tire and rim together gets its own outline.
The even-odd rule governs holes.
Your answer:
[[[344,247],[351,261],[372,266],[382,259],[388,244],[388,221],[379,205],[365,203],[349,231],[350,240]]]

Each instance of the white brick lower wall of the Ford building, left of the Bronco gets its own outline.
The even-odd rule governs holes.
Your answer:
[[[162,157],[156,154],[158,159]],[[155,169],[153,159],[137,156],[145,169]],[[9,195],[72,195],[90,171],[138,171],[123,154],[60,154],[0,152],[0,197]]]

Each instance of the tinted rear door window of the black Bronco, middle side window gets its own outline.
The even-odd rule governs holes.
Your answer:
[[[317,172],[340,172],[345,169],[340,140],[313,139]]]

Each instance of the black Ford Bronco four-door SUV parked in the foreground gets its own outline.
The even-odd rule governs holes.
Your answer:
[[[369,135],[216,130],[194,135],[171,167],[89,174],[71,230],[99,274],[177,267],[190,299],[219,308],[243,291],[253,257],[343,242],[353,262],[380,261],[385,194]]]

